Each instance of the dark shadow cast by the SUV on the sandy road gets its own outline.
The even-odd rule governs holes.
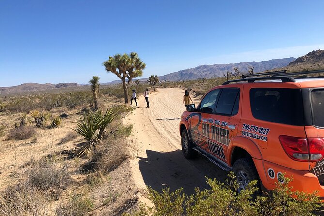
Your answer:
[[[209,188],[205,176],[224,182],[228,174],[201,155],[194,160],[185,159],[181,150],[146,150],[146,154],[147,158],[139,157],[139,169],[145,184],[159,192],[166,187],[171,191],[182,187],[186,194],[193,194],[196,187]]]

